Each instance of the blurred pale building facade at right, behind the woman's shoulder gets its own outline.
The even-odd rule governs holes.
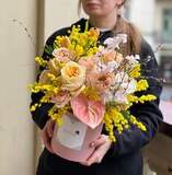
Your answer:
[[[172,101],[172,1],[130,0],[128,18],[151,44],[164,81],[162,100]]]

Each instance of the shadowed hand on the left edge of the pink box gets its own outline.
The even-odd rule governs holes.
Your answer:
[[[53,119],[49,119],[47,120],[44,129],[41,132],[42,140],[45,148],[51,153],[54,153],[50,144],[53,133],[54,133],[54,127],[55,127],[55,121]]]

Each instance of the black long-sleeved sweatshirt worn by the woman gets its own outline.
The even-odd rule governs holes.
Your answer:
[[[81,30],[84,30],[85,20],[82,19],[76,24],[79,24]],[[57,35],[68,35],[67,31],[69,28],[71,27],[55,32],[46,44],[53,45]],[[102,43],[110,36],[112,36],[112,32],[102,33],[100,42]],[[64,160],[44,149],[39,158],[37,175],[142,175],[140,149],[154,137],[162,121],[162,115],[158,107],[161,85],[154,79],[158,78],[158,65],[151,47],[142,39],[140,58],[144,60],[148,56],[151,56],[152,59],[142,67],[142,74],[151,77],[149,79],[150,86],[146,93],[154,94],[158,100],[134,105],[130,109],[131,114],[146,125],[147,131],[142,132],[137,127],[131,127],[122,135],[116,132],[117,142],[108,150],[103,161],[89,167]],[[48,54],[44,51],[43,58],[47,59],[48,57]],[[31,104],[36,103],[41,96],[41,93],[33,93]],[[47,112],[50,107],[51,104],[44,104],[41,108],[32,112],[32,117],[41,129],[43,129],[48,119]]]

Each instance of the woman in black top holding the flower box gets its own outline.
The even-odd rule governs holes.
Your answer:
[[[149,79],[149,90],[146,93],[154,94],[157,101],[141,105],[137,104],[130,109],[130,113],[146,125],[147,131],[142,132],[135,127],[124,131],[122,135],[117,135],[114,131],[117,137],[117,142],[115,143],[112,143],[107,139],[105,131],[102,131],[101,137],[91,144],[96,149],[88,160],[79,163],[70,162],[54,154],[50,148],[54,121],[47,117],[47,112],[51,104],[45,104],[32,112],[34,121],[42,129],[42,138],[45,144],[39,158],[37,175],[142,175],[140,149],[154,137],[162,120],[162,115],[158,107],[161,86],[156,79],[158,77],[158,66],[151,47],[141,38],[136,27],[125,21],[119,13],[124,3],[125,0],[80,1],[80,5],[83,7],[84,12],[89,15],[89,27],[94,26],[101,31],[100,43],[117,33],[125,33],[128,36],[128,43],[123,46],[123,54],[139,54],[141,60],[145,59],[145,62],[147,62],[142,66],[142,75],[151,78]],[[81,19],[72,25],[80,25],[81,31],[84,31],[85,20]],[[55,32],[46,44],[53,45],[57,35],[68,35],[68,30],[71,26]],[[43,58],[48,59],[49,57],[44,51]],[[148,57],[151,57],[151,59],[146,61]],[[32,103],[37,102],[41,96],[41,93],[33,93]]]

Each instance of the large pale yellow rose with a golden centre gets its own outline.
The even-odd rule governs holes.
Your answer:
[[[77,62],[69,61],[61,69],[62,89],[67,91],[77,91],[83,86],[85,81],[85,67]]]

